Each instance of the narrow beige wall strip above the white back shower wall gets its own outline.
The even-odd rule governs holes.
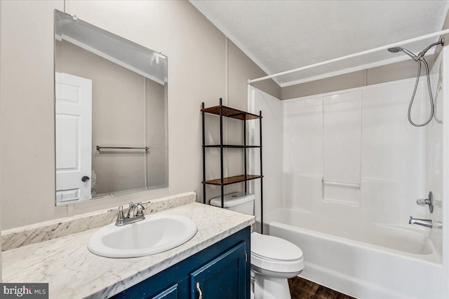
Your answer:
[[[426,60],[431,68],[434,65],[434,56],[429,55],[426,57]],[[354,71],[349,74],[286,86],[281,89],[281,99],[295,99],[297,97],[318,95],[337,90],[359,88],[366,85],[413,78],[416,77],[416,74],[417,62],[410,59],[382,67],[374,67],[363,71]],[[422,69],[422,74],[425,74],[424,68]]]

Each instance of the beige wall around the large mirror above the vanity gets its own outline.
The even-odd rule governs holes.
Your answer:
[[[227,47],[226,36],[187,1],[0,6],[3,229],[192,190],[202,200],[201,102],[212,106],[223,97],[229,106],[246,109],[246,81],[263,71],[232,43]],[[66,13],[168,56],[168,188],[55,207],[53,9],[64,6]],[[271,81],[257,87],[279,97]]]

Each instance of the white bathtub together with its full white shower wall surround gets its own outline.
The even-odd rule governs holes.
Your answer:
[[[415,78],[290,99],[281,108],[253,92],[254,111],[275,110],[264,122],[283,123],[282,169],[275,169],[283,185],[267,180],[264,192],[277,196],[264,196],[264,220],[270,235],[304,252],[300,276],[356,298],[449,298],[448,55],[443,48],[431,71],[443,122],[426,127],[407,118]],[[424,77],[415,123],[428,118],[428,97]],[[281,119],[269,119],[279,109]],[[279,161],[281,132],[265,132],[264,160]],[[429,191],[433,214],[416,204]],[[442,221],[443,229],[409,225],[409,216]]]

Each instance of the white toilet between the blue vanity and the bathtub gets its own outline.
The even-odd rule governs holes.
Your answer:
[[[228,194],[224,207],[253,215],[254,199],[248,193]],[[210,204],[221,207],[221,197],[213,198]],[[304,258],[298,246],[279,237],[251,233],[251,298],[291,299],[287,279],[303,269]]]

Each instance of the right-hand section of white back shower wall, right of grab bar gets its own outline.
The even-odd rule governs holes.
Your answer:
[[[425,128],[407,118],[413,81],[363,90],[362,188],[370,202],[371,221],[408,225],[409,216],[424,216],[415,201],[425,195]],[[423,85],[415,97],[413,119],[424,118]]]

